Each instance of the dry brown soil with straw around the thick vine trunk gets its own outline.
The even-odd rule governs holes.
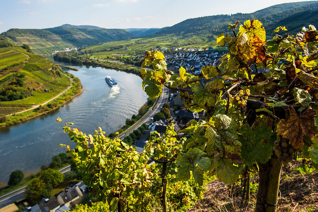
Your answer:
[[[278,194],[277,212],[318,212],[318,172],[300,174],[294,170],[301,161],[283,166]],[[204,199],[197,202],[188,212],[252,212],[255,209],[258,174],[251,179],[250,201],[242,204],[243,189],[240,184],[226,185],[214,180],[208,184]]]

